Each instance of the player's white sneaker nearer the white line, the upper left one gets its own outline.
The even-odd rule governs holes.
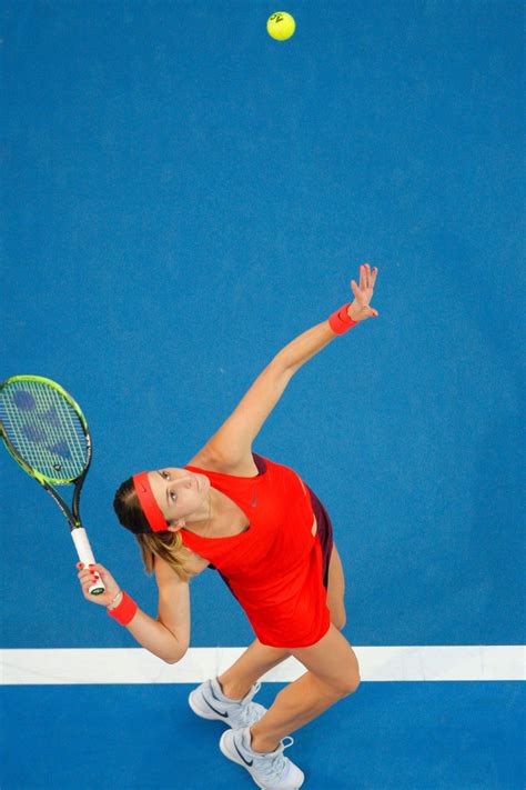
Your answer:
[[[255,724],[265,713],[266,708],[252,698],[261,689],[261,683],[254,683],[241,700],[231,700],[223,694],[218,678],[205,680],[190,692],[189,706],[202,719],[218,719],[234,729]]]

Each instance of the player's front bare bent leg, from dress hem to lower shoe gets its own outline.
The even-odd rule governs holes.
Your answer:
[[[317,718],[360,684],[354,650],[334,623],[316,644],[293,648],[291,654],[308,671],[285,686],[266,713],[251,726],[254,751],[274,751],[282,738]]]

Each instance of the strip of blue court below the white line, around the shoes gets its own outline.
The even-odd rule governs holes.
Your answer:
[[[264,684],[270,707],[281,684]],[[4,788],[171,790],[255,787],[218,747],[223,726],[196,718],[190,687],[10,688]],[[294,738],[304,787],[520,788],[519,683],[362,683]],[[23,744],[20,737],[23,734]]]

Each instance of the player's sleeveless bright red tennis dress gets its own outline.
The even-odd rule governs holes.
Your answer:
[[[322,553],[326,541],[320,534],[320,521],[325,520],[316,512],[318,530],[313,536],[315,494],[289,467],[255,453],[253,458],[259,474],[251,478],[184,467],[205,474],[213,488],[232,499],[246,514],[250,529],[227,538],[203,538],[181,529],[181,537],[221,573],[263,644],[307,647],[331,626]]]

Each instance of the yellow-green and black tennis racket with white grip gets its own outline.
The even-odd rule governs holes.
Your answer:
[[[80,490],[91,463],[88,422],[60,384],[41,376],[12,376],[0,384],[0,430],[14,460],[54,499],[70,526],[79,559],[95,560],[79,517]],[[72,509],[53,488],[74,483]],[[89,588],[100,596],[101,579]]]

